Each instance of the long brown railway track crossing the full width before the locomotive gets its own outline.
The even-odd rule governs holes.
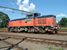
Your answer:
[[[0,34],[1,37],[11,37],[14,39],[23,39],[26,38],[26,41],[30,42],[39,42],[39,43],[47,43],[56,46],[67,47],[67,40],[57,40],[57,39],[48,39],[48,38],[36,38],[36,37],[29,37],[29,36],[19,36],[19,35],[8,35],[8,34]]]

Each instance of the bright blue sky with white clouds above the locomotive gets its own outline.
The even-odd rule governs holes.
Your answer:
[[[21,1],[22,4],[19,4]],[[25,2],[24,0],[0,0],[0,6],[6,6],[10,8],[16,8],[25,10]],[[39,12],[42,15],[56,15],[57,21],[59,21],[62,17],[67,17],[67,0],[28,0],[28,6],[26,5],[26,10],[34,12]],[[21,6],[20,6],[21,5]],[[0,11],[8,14],[11,20],[24,18],[26,17],[23,12],[0,8]]]

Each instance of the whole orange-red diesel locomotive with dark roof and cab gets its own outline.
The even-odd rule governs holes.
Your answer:
[[[39,13],[28,14],[27,18],[10,20],[8,30],[16,32],[57,33],[56,16],[40,16]]]

